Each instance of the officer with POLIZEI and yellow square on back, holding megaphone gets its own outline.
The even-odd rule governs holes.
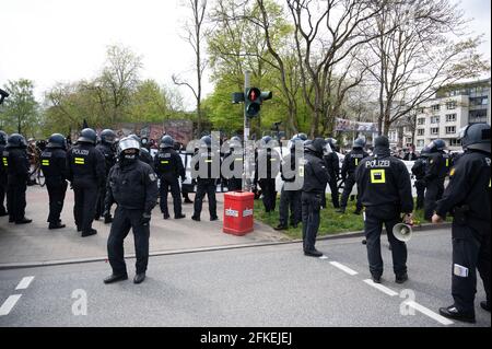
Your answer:
[[[395,224],[411,223],[413,198],[410,174],[405,163],[390,155],[389,140],[379,136],[374,140],[374,154],[362,160],[355,178],[362,205],[365,207],[365,239],[367,258],[373,281],[380,282],[383,259],[380,256],[380,233],[386,226],[393,254],[393,269],[396,282],[408,280],[407,245],[393,234]]]

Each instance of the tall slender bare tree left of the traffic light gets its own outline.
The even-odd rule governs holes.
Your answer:
[[[185,24],[186,42],[191,46],[195,53],[195,71],[197,73],[197,85],[194,88],[189,82],[180,80],[173,74],[173,82],[178,86],[187,86],[191,90],[197,103],[197,128],[198,135],[201,133],[201,93],[202,93],[202,78],[207,61],[202,56],[202,43],[207,35],[207,30],[203,27],[204,14],[207,11],[207,0],[188,0],[188,8],[191,10],[192,18]]]

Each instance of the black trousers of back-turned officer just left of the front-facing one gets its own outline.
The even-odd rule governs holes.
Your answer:
[[[82,232],[90,232],[97,203],[97,185],[73,185],[73,217]]]

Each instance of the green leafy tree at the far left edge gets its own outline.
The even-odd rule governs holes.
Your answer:
[[[31,135],[37,131],[39,104],[34,97],[34,83],[27,79],[9,81],[4,90],[10,94],[3,102],[3,113],[7,130]]]

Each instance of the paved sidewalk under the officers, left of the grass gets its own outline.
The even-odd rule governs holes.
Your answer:
[[[208,202],[203,203],[201,222],[191,220],[192,203],[183,205],[185,219],[164,220],[159,206],[154,209],[151,221],[150,252],[195,249],[215,246],[258,244],[267,242],[290,241],[282,233],[270,226],[255,222],[255,231],[244,236],[222,232],[223,195],[218,194],[219,221],[210,222]],[[191,196],[192,199],[192,196]],[[168,196],[171,217],[173,203]],[[115,206],[113,207],[113,209]],[[61,220],[67,228],[48,230],[48,193],[46,188],[32,186],[27,189],[26,217],[33,223],[15,225],[9,223],[8,217],[0,218],[0,267],[17,264],[43,264],[47,261],[67,261],[71,259],[106,258],[106,242],[110,224],[94,221],[97,235],[81,237],[73,222],[73,191],[67,190],[67,198]],[[129,235],[132,235],[130,232]],[[125,241],[127,255],[134,254],[133,237]]]

